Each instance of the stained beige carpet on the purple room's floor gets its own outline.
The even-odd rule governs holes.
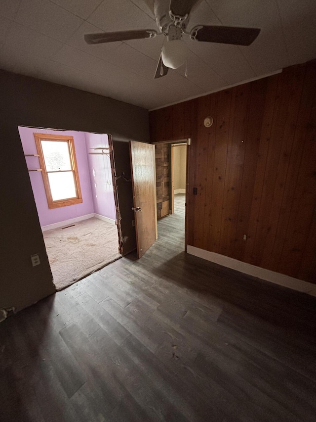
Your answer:
[[[121,257],[117,226],[97,218],[48,230],[43,237],[57,290]]]

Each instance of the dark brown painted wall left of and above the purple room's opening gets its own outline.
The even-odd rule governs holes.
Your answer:
[[[149,141],[148,112],[89,94],[0,71],[0,308],[22,309],[55,291],[18,125],[110,133]],[[32,254],[41,264],[32,267]]]

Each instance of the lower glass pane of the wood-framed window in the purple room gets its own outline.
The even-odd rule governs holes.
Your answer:
[[[48,180],[53,201],[77,198],[73,172],[48,173]]]

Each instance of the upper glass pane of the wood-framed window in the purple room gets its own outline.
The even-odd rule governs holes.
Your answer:
[[[68,141],[41,141],[46,170],[72,170]]]

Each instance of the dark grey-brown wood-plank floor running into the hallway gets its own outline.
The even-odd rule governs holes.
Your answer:
[[[122,258],[0,324],[1,421],[315,421],[316,298],[184,252],[184,195]]]

